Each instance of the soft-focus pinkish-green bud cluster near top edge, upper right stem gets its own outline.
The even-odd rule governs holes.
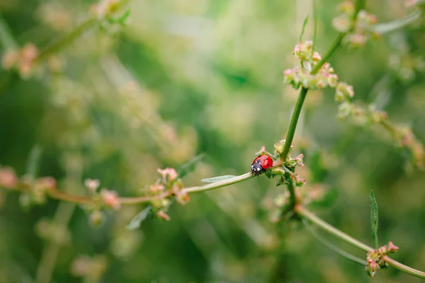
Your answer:
[[[344,40],[353,47],[363,47],[370,37],[378,37],[373,25],[378,22],[375,15],[364,10],[358,11],[351,1],[345,1],[338,6],[339,16],[332,21],[339,33],[348,33]]]

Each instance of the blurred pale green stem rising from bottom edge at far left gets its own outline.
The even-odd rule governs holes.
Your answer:
[[[74,213],[75,204],[60,202],[57,207],[55,218],[53,221],[67,227]],[[55,268],[57,256],[59,255],[61,245],[55,241],[48,241],[45,248],[42,250],[40,263],[37,267],[37,275],[35,283],[48,283],[51,282],[52,273]]]

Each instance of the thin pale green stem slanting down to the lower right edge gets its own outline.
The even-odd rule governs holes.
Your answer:
[[[328,233],[331,233],[336,238],[340,238],[342,241],[345,241],[351,246],[355,246],[356,248],[364,250],[365,252],[370,252],[371,250],[373,250],[372,247],[366,245],[365,243],[362,243],[361,241],[356,240],[355,238],[344,233],[343,231],[339,231],[338,229],[336,229],[334,226],[331,226],[331,224],[327,223],[326,221],[323,221],[318,216],[310,212],[310,210],[306,209],[300,204],[295,206],[295,212],[297,212],[299,216],[310,220],[313,224],[315,224],[319,228],[323,229],[324,231],[327,231]],[[393,260],[392,258],[389,258],[388,256],[385,256],[383,259],[385,260],[385,262],[387,262],[388,265],[391,265],[392,267],[395,267],[398,270],[401,270],[402,272],[406,272],[409,275],[413,275],[415,277],[425,279],[425,272],[421,272],[419,270],[413,269],[412,267],[408,267],[407,265],[403,265],[402,263],[397,262],[397,260]]]

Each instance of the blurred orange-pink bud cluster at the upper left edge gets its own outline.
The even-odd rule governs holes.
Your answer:
[[[21,50],[8,50],[3,55],[1,65],[3,69],[17,69],[21,77],[29,78],[34,71],[38,49],[32,43],[27,43]]]

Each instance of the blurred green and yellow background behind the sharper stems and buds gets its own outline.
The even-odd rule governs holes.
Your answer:
[[[387,22],[409,13],[405,2],[368,1],[367,8]],[[338,3],[317,1],[322,54],[337,34]],[[88,18],[92,4],[1,0],[1,53],[28,42],[41,50]],[[197,154],[205,158],[183,178],[187,186],[246,173],[261,146],[272,151],[285,137],[297,92],[283,86],[283,70],[296,64],[293,47],[311,1],[130,6],[125,28],[87,31],[33,76],[0,70],[2,166],[23,175],[30,152],[42,149],[38,175],[55,177],[61,189],[83,195],[84,180],[98,178],[132,196],[157,180],[157,168],[179,168]],[[356,103],[387,111],[421,141],[423,32],[414,25],[331,59],[354,86]],[[305,38],[311,35],[312,21]],[[335,187],[334,204],[314,211],[369,245],[374,190],[380,242],[393,241],[397,260],[424,270],[424,173],[389,134],[338,121],[336,112],[333,91],[308,93],[294,141],[306,156],[302,190]],[[268,203],[282,190],[262,177],[200,193],[174,204],[171,221],[149,218],[137,231],[125,226],[142,205],[124,206],[95,228],[77,205],[25,207],[19,192],[0,190],[0,282],[419,282],[393,268],[369,279],[301,224],[271,223]]]

